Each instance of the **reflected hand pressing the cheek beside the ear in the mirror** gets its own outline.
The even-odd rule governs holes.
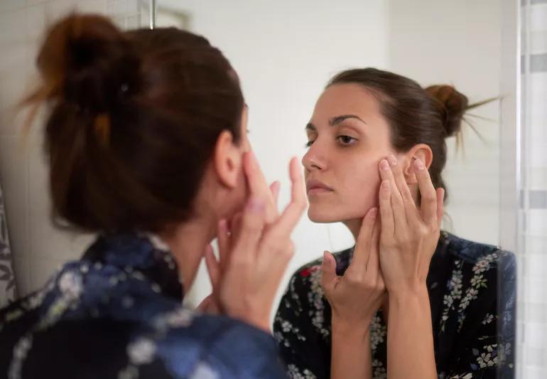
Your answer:
[[[386,289],[420,292],[426,289],[431,257],[443,218],[444,190],[435,191],[423,162],[412,162],[421,195],[420,208],[395,156],[380,162],[380,263]]]

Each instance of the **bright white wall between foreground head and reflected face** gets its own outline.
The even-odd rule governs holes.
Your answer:
[[[249,139],[269,181],[281,181],[280,204],[288,202],[287,164],[301,158],[305,124],[327,80],[345,68],[386,67],[389,18],[384,0],[158,0],[183,12],[190,31],[206,36],[231,61],[249,105]],[[165,20],[165,21],[163,21]],[[178,25],[160,18],[158,26]],[[288,276],[305,262],[352,245],[343,225],[319,225],[303,216],[293,240],[296,255]],[[280,292],[285,287],[285,282]],[[201,267],[186,301],[210,291]]]

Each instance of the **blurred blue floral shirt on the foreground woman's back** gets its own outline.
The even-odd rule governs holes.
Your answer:
[[[182,304],[170,252],[102,236],[0,311],[0,378],[286,378],[271,335]]]

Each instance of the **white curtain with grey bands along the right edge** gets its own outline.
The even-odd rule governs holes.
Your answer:
[[[517,377],[547,373],[547,0],[521,3]]]

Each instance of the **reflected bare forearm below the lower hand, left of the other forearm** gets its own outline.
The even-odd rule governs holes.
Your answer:
[[[348,325],[332,318],[331,379],[372,378],[368,325]]]

